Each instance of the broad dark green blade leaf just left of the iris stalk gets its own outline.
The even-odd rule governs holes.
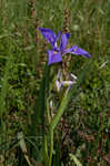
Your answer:
[[[46,101],[47,101],[48,90],[49,90],[48,82],[49,82],[49,66],[46,65],[43,77],[41,81],[41,86],[39,90],[39,95],[36,98],[36,105],[34,105],[33,115],[32,115],[32,124],[31,124],[31,129],[30,129],[31,135],[41,136],[41,138],[42,138],[41,147],[39,151],[47,148],[47,138],[44,136],[44,133],[46,133],[44,132],[44,125],[46,125],[44,111],[46,111]],[[38,143],[36,143],[36,144],[38,144]],[[34,149],[32,152],[33,152],[32,157],[34,157],[36,159],[39,159],[38,158],[39,154],[37,154],[37,152]],[[41,155],[42,155],[42,153],[41,153]]]

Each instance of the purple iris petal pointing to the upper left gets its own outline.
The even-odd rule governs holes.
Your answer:
[[[44,37],[44,39],[52,45],[54,46],[54,43],[57,42],[58,37],[56,35],[56,33],[53,31],[51,31],[50,29],[44,29],[44,28],[39,28],[38,29],[42,35]]]

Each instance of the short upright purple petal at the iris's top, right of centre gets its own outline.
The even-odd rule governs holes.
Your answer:
[[[64,33],[61,35],[61,42],[60,42],[60,51],[63,52],[68,44],[68,40],[70,38],[70,33]]]

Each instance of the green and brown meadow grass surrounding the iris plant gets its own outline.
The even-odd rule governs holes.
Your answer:
[[[34,105],[39,105],[39,97],[44,100],[41,94],[47,91],[43,66],[49,46],[37,28],[62,30],[64,9],[69,10],[70,45],[86,49],[92,55],[92,66],[63,114],[62,131],[56,133],[56,141],[58,137],[61,141],[56,145],[60,145],[60,158],[54,163],[57,166],[74,166],[69,155],[73,154],[83,166],[110,164],[110,1],[0,0],[1,166],[28,165],[17,136],[20,132],[24,136],[28,159],[32,165],[42,160],[39,154],[41,133],[34,133],[40,125],[33,123],[39,123],[39,116],[37,116]],[[72,56],[66,71],[79,75],[87,63],[83,58]]]

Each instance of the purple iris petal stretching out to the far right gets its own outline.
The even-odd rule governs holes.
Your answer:
[[[83,49],[78,48],[77,45],[71,46],[70,49],[64,50],[63,54],[66,53],[72,53],[76,55],[83,55],[86,58],[91,58],[91,55]]]

